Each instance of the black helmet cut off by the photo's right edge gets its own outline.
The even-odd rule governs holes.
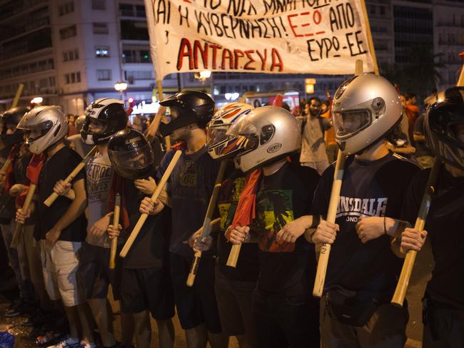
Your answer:
[[[448,88],[425,114],[425,140],[435,155],[464,170],[464,87]]]

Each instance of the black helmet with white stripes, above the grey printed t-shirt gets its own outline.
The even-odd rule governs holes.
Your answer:
[[[103,125],[102,131],[90,130],[92,119]],[[126,128],[128,116],[122,101],[100,98],[86,108],[86,121],[81,129],[81,137],[87,145],[107,143],[114,133]]]

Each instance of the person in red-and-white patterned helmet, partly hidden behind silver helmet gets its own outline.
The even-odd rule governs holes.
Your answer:
[[[243,103],[230,103],[223,106],[208,124],[208,153],[215,160],[232,158],[235,148],[231,148],[234,139],[228,138],[228,128],[233,122],[252,110]],[[232,149],[232,150],[231,150]],[[246,175],[229,164],[226,179],[221,183],[217,208],[220,218],[211,221],[211,233],[217,235],[218,259],[214,276],[214,288],[218,301],[219,316],[224,334],[236,336],[241,348],[258,347],[256,322],[253,318],[253,290],[258,279],[258,245],[246,243],[241,247],[241,257],[236,267],[228,267],[227,260],[231,252],[231,243],[224,233],[232,224],[238,207],[238,199],[246,183]],[[193,251],[206,252],[213,246],[211,235],[201,238],[198,230],[189,240]]]

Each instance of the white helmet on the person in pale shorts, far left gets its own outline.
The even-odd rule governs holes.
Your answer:
[[[21,118],[17,128],[24,131],[31,153],[39,154],[68,134],[68,121],[57,106],[38,106]]]

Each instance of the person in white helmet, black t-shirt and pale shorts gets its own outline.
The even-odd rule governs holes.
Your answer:
[[[18,129],[24,131],[31,153],[46,157],[37,186],[38,200],[27,212],[18,209],[16,222],[24,223],[31,212],[36,211],[36,238],[41,245],[46,290],[57,307],[59,300],[62,301],[69,321],[69,336],[49,347],[95,347],[86,302],[76,279],[79,250],[86,236],[84,173],[76,175],[66,197],[57,198],[50,208],[43,203],[54,192],[56,181],[66,178],[81,157],[64,145],[68,123],[59,108],[34,108],[21,118]]]

